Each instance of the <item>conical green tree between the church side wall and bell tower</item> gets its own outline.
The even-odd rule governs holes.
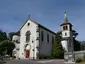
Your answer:
[[[55,42],[54,42],[54,46],[53,46],[53,57],[54,58],[63,58],[64,57],[64,51],[61,45],[61,36],[60,36],[60,32],[56,33],[56,37],[55,37]]]

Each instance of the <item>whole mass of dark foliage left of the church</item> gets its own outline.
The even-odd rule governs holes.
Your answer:
[[[9,34],[9,37],[12,38],[12,36]],[[11,41],[12,39],[9,39],[7,37],[6,32],[3,32],[0,30],[0,55],[12,55],[12,50],[14,49],[15,45]]]

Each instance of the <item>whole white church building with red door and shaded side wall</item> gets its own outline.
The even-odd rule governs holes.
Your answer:
[[[51,56],[55,33],[41,24],[28,19],[13,36],[13,55],[17,59],[39,59]]]

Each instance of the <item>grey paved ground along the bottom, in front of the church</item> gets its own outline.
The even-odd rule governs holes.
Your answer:
[[[7,60],[5,64],[64,64],[63,60]]]

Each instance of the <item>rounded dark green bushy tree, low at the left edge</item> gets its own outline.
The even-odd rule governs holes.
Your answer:
[[[9,40],[4,40],[0,43],[0,54],[1,55],[12,55],[12,50],[14,49],[15,45]]]

